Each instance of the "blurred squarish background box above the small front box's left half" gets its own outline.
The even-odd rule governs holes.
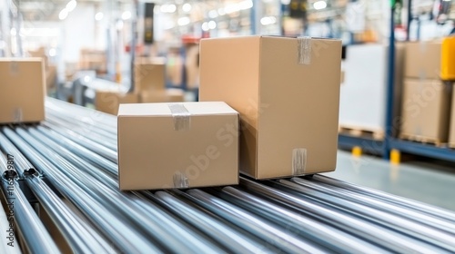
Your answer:
[[[135,92],[164,90],[166,88],[165,63],[162,60],[138,59],[135,63]]]

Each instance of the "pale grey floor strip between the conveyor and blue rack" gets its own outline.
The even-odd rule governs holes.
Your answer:
[[[337,171],[325,175],[455,211],[454,167],[421,161],[391,165],[368,155],[356,158],[348,151],[338,155]]]

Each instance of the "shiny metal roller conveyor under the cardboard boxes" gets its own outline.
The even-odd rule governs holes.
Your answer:
[[[116,117],[50,98],[40,125],[1,127],[0,149],[15,156],[17,176],[0,160],[2,190],[32,253],[58,249],[23,186],[76,253],[455,252],[455,213],[322,175],[119,191]]]

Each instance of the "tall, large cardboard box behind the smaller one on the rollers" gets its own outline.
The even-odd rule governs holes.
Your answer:
[[[200,50],[200,101],[240,112],[240,171],[335,170],[341,41],[246,36],[202,40]]]

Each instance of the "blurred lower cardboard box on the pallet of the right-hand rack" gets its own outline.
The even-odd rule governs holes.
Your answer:
[[[450,87],[439,80],[405,79],[400,137],[424,142],[447,142]]]

